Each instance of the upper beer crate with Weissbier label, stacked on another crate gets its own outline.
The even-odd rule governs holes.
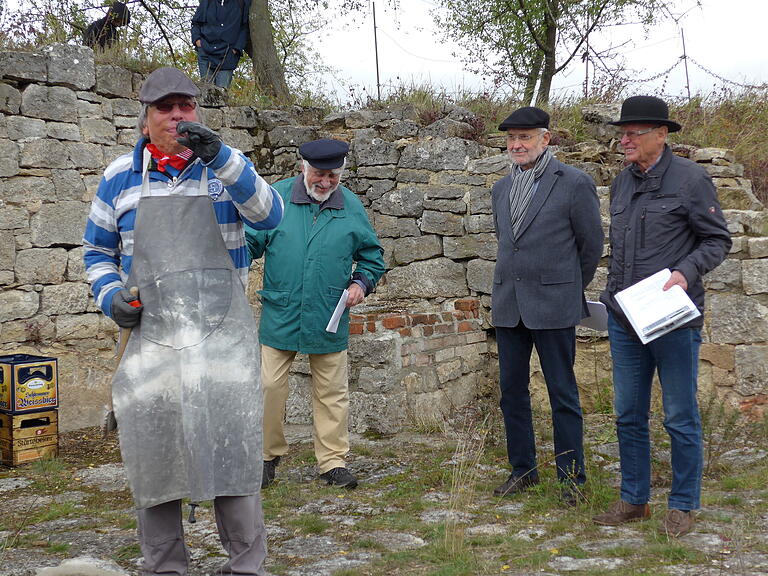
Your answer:
[[[22,414],[59,405],[56,358],[29,354],[0,356],[0,412]]]

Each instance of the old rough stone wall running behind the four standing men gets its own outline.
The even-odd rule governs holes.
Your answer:
[[[0,352],[56,356],[61,427],[93,425],[107,402],[116,331],[96,309],[82,264],[82,232],[104,167],[131,149],[141,77],[94,63],[78,46],[0,52]],[[413,107],[255,110],[226,106],[205,88],[206,122],[248,154],[269,181],[292,176],[297,147],[318,137],[351,144],[344,183],[369,211],[388,272],[354,310],[350,340],[352,427],[395,432],[432,425],[493,393],[495,342],[489,324],[496,254],[490,187],[508,170],[500,136],[477,141],[465,109],[425,122]],[[618,106],[584,110],[593,139],[557,156],[598,183],[607,227],[608,189],[621,154],[606,124]],[[768,212],[732,152],[676,146],[701,162],[718,187],[734,246],[706,278],[701,385],[759,414],[768,402]],[[596,298],[605,269],[589,287]],[[249,297],[258,314],[260,263]],[[579,331],[577,370],[589,403],[610,378],[604,334]],[[532,375],[541,393],[534,360]],[[307,422],[309,367],[291,374],[287,418]]]

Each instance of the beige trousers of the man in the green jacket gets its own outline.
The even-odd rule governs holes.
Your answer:
[[[288,401],[288,370],[296,352],[261,345],[261,385],[264,388],[264,460],[288,453],[283,433]],[[344,467],[349,453],[349,386],[347,351],[310,354],[312,421],[315,458],[320,473]]]

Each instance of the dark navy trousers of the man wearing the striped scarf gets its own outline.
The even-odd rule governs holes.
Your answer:
[[[504,415],[507,457],[512,473],[532,479],[539,477],[528,389],[531,352],[535,345],[552,407],[557,478],[561,482],[583,484],[587,478],[584,473],[584,424],[573,373],[575,329],[531,330],[520,322],[514,328],[496,327],[496,342],[501,388],[499,405]]]

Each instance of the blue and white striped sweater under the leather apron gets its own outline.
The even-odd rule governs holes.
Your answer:
[[[142,138],[132,154],[125,154],[104,171],[85,227],[84,260],[97,305],[111,315],[112,297],[123,288],[131,271],[133,226],[141,197],[144,145]],[[222,145],[207,166],[198,159],[183,174],[167,167],[170,177],[150,171],[152,196],[196,196],[200,193],[203,169],[209,182],[217,178],[224,185],[213,202],[221,236],[229,250],[243,285],[248,279],[250,257],[245,245],[243,222],[256,229],[276,227],[283,217],[280,195],[256,173],[253,164],[239,150]]]

